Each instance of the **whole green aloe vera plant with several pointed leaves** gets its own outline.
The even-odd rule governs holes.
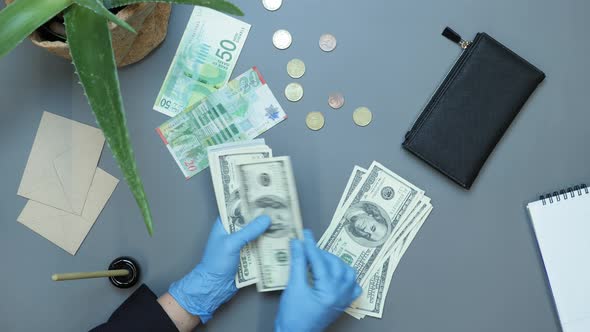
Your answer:
[[[15,0],[0,11],[0,58],[55,15],[63,12],[72,62],[92,112],[137,201],[148,233],[153,222],[139,176],[119,87],[108,22],[135,32],[109,9],[139,2],[164,2],[209,7],[243,15],[223,0]]]

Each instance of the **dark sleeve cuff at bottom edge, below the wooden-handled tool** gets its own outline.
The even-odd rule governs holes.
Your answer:
[[[95,327],[91,331],[178,332],[178,329],[157,299],[156,295],[143,284],[115,310],[108,322]]]

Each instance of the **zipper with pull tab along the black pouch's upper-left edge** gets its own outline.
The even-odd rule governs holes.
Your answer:
[[[424,109],[422,110],[422,112],[420,112],[420,114],[418,115],[416,120],[414,120],[412,126],[410,127],[410,130],[406,133],[406,136],[405,136],[406,140],[410,139],[413,136],[416,129],[418,129],[422,125],[424,120],[426,120],[428,115],[430,115],[430,112],[432,112],[433,104],[438,100],[438,98],[440,97],[440,95],[444,91],[443,87],[448,85],[451,82],[450,78],[453,77],[453,74],[455,74],[461,68],[461,66],[463,65],[463,62],[465,62],[467,55],[469,55],[469,50],[472,48],[471,46],[479,40],[479,38],[478,38],[479,34],[475,37],[475,39],[473,41],[465,40],[461,37],[461,35],[459,35],[457,32],[455,32],[453,29],[451,29],[449,27],[446,27],[443,30],[442,35],[444,37],[446,37],[447,39],[449,39],[450,41],[452,41],[453,43],[459,45],[459,47],[461,48],[462,51],[459,54],[459,57],[457,58],[457,60],[455,60],[455,64],[453,66],[451,66],[451,69],[445,75],[445,78],[441,81],[441,83],[438,85],[438,87],[434,90],[434,93],[430,97],[430,100],[426,104],[426,107],[424,107]]]

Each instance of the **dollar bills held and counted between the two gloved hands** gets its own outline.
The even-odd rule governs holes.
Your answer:
[[[289,280],[290,241],[302,238],[301,212],[289,157],[273,157],[264,140],[208,149],[211,179],[223,226],[235,233],[260,215],[272,224],[240,253],[238,288],[284,289]]]

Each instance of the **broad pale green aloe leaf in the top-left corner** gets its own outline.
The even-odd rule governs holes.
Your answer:
[[[0,58],[43,23],[72,4],[72,0],[16,0],[0,11]]]

